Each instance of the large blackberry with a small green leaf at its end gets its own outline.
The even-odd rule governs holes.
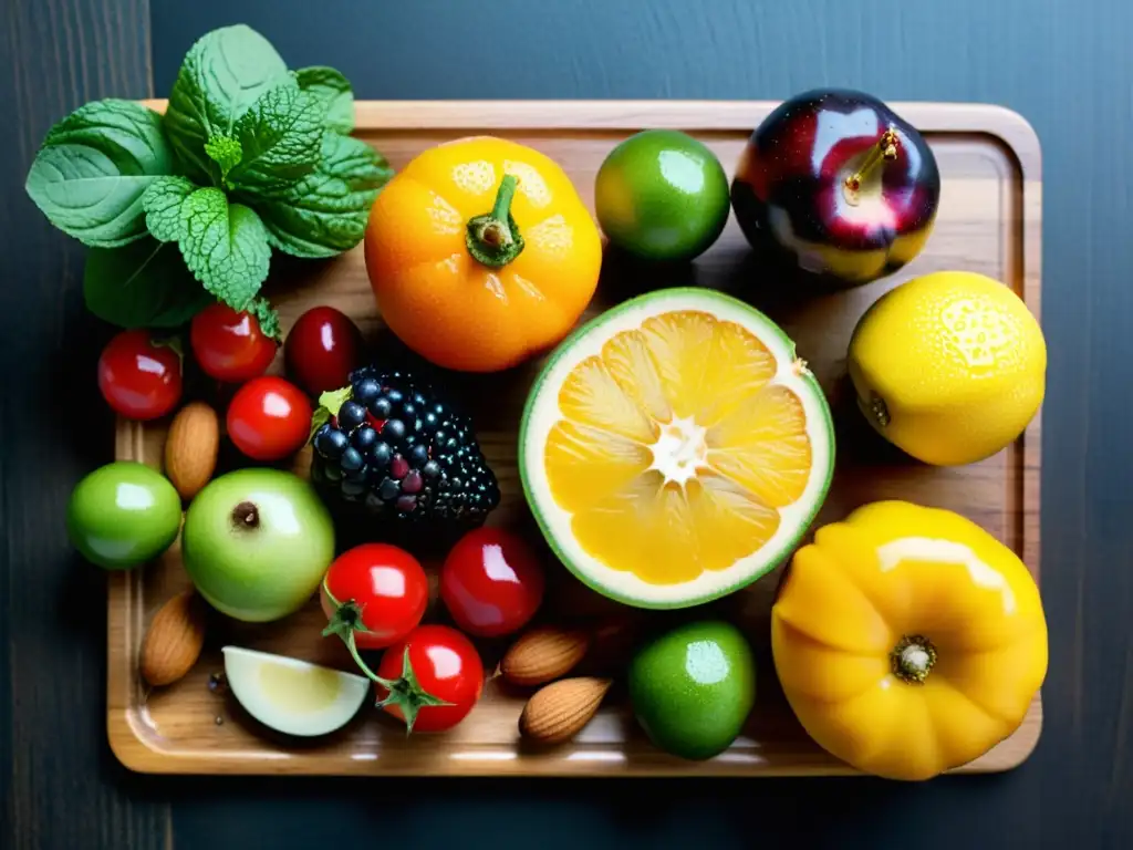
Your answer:
[[[431,385],[366,366],[329,396],[337,409],[316,414],[310,475],[327,502],[429,535],[479,526],[500,504],[471,420]]]

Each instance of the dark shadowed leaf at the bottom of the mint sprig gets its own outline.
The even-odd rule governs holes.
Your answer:
[[[91,313],[120,328],[176,328],[214,300],[176,246],[150,238],[88,250],[83,296]]]

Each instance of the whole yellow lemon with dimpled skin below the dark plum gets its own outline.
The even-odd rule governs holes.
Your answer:
[[[850,340],[858,405],[926,464],[971,464],[1023,433],[1046,385],[1038,321],[999,281],[935,272],[891,290]]]

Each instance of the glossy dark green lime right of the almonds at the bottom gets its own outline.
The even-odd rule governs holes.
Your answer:
[[[657,747],[712,758],[731,746],[755,705],[751,647],[729,622],[685,623],[638,652],[629,689],[633,714]]]

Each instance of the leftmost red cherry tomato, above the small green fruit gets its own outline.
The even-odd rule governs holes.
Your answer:
[[[155,346],[148,331],[122,331],[99,357],[99,389],[122,416],[156,419],[181,398],[181,358],[169,346]]]

